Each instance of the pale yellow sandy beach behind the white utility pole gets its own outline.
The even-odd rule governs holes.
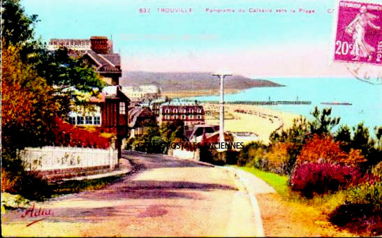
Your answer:
[[[219,125],[219,104],[203,103],[206,112],[205,124]],[[224,105],[224,131],[252,132],[258,140],[269,143],[270,134],[293,125],[298,114],[279,112],[255,105]],[[213,114],[213,116],[211,115]]]

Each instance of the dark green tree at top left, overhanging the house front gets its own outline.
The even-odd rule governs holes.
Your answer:
[[[19,1],[2,1],[1,17],[3,46],[17,45],[22,62],[31,65],[47,85],[54,86],[57,95],[69,96],[75,103],[86,105],[86,99],[105,86],[94,68],[84,64],[82,59],[69,57],[66,49],[49,51],[41,40],[36,40],[34,26],[38,16],[26,15]]]

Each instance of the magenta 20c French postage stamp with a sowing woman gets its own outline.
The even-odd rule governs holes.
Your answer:
[[[381,65],[382,4],[338,1],[334,61]]]

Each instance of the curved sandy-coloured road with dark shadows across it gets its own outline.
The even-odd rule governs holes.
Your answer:
[[[98,191],[35,204],[51,215],[2,217],[3,236],[254,236],[249,196],[235,174],[170,156],[124,151],[135,169]],[[45,218],[32,225],[29,223]]]

